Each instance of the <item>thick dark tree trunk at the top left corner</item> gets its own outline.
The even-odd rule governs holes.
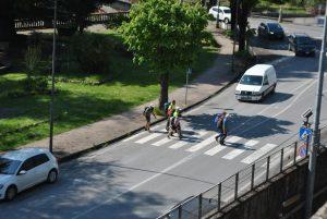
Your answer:
[[[15,35],[13,0],[0,1],[0,40],[11,41]]]

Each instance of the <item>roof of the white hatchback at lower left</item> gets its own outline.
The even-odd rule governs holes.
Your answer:
[[[29,147],[29,148],[22,148],[22,149],[17,149],[17,150],[8,151],[8,153],[1,155],[1,157],[13,159],[13,160],[24,161],[27,158],[33,157],[35,155],[48,154],[48,153],[49,153],[49,150],[44,149],[44,148]]]

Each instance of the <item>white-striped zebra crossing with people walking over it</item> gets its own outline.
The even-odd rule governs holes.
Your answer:
[[[187,133],[187,131],[185,133]],[[165,147],[173,150],[183,150],[185,153],[201,151],[204,156],[218,156],[225,160],[239,159],[240,162],[246,165],[252,163],[277,147],[276,144],[261,144],[259,141],[245,139],[240,136],[229,136],[226,139],[227,145],[220,145],[215,139],[216,135],[217,134],[211,131],[201,130],[192,135],[185,135],[182,139],[178,139],[177,137],[168,138],[165,129],[157,129],[157,131],[155,130],[152,133],[137,133],[123,139],[123,142],[130,142],[136,145]]]

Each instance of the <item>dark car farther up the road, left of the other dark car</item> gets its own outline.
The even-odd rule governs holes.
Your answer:
[[[258,37],[268,39],[283,39],[283,28],[277,22],[263,22],[257,28]]]

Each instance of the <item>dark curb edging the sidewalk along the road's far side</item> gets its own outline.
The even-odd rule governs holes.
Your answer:
[[[218,89],[214,94],[209,95],[208,97],[206,97],[206,98],[204,98],[204,99],[202,99],[202,100],[199,100],[197,102],[194,102],[193,105],[190,105],[189,107],[184,108],[182,110],[182,112],[186,112],[186,111],[193,109],[194,107],[197,107],[198,105],[204,104],[205,101],[207,101],[207,100],[211,99],[213,97],[217,96],[218,94],[220,94],[221,92],[223,92],[225,89],[227,89],[228,87],[230,87],[233,83],[235,83],[239,76],[240,76],[240,74],[235,75],[227,85],[222,86],[220,89]],[[166,118],[161,118],[161,119],[159,119],[159,120],[157,120],[155,122],[152,122],[150,125],[158,124],[158,123],[160,123],[160,122],[162,122],[165,120],[166,120]],[[57,158],[57,160],[58,160],[59,163],[63,163],[63,162],[72,160],[72,159],[76,159],[76,158],[78,158],[78,157],[81,157],[81,156],[83,156],[85,154],[88,154],[88,153],[101,149],[104,147],[108,147],[108,146],[110,146],[110,145],[112,145],[112,144],[114,144],[114,143],[123,139],[123,138],[126,138],[126,137],[129,137],[129,136],[131,136],[131,135],[133,135],[133,134],[135,134],[135,133],[137,133],[140,131],[142,131],[142,130],[144,130],[144,126],[137,127],[137,129],[135,129],[135,130],[133,130],[133,131],[131,131],[129,133],[125,133],[125,134],[123,134],[121,136],[118,136],[118,137],[114,137],[112,139],[109,139],[107,142],[94,145],[90,148],[83,149],[83,150],[70,154],[68,156],[61,157],[61,158]]]

